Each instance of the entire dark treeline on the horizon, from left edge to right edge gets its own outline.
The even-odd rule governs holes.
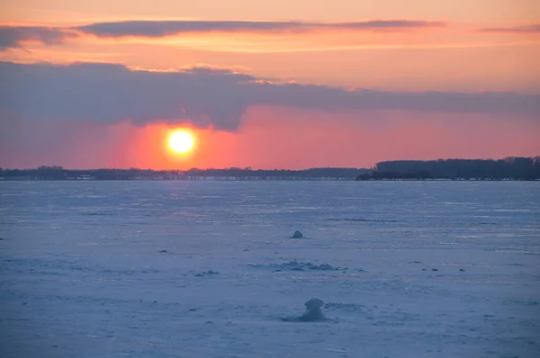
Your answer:
[[[200,177],[257,179],[336,178],[362,180],[540,180],[540,157],[503,159],[392,160],[371,169],[323,167],[303,170],[223,168],[185,171],[151,169],[73,170],[62,166],[3,169],[4,180],[182,180]]]

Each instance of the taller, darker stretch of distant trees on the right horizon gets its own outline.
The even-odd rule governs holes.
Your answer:
[[[504,159],[394,160],[377,163],[372,173],[356,180],[539,180],[540,157]]]

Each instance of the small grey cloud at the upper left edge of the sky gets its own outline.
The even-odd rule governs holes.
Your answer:
[[[19,48],[30,40],[54,45],[77,36],[74,31],[59,27],[0,25],[0,50]]]

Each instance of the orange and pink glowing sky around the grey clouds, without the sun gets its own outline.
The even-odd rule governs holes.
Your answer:
[[[451,0],[7,0],[0,10],[0,61],[105,62],[152,70],[206,64],[275,83],[400,93],[540,94],[540,2],[533,0],[476,0],[467,6]],[[166,36],[149,35],[156,29],[146,24],[127,31],[148,35],[73,30],[143,20],[159,31],[165,20],[202,27]],[[437,25],[395,27],[397,21]],[[230,30],[222,22],[249,23]],[[257,30],[258,22],[276,22],[277,28]],[[284,30],[283,22],[311,25]],[[25,26],[62,37],[22,35]],[[12,32],[2,37],[1,31]],[[71,31],[76,34],[65,35]],[[11,85],[3,84],[6,94]],[[29,106],[38,103],[32,101]],[[167,124],[158,113],[145,124],[123,117],[34,122],[0,105],[0,166],[360,167],[387,159],[540,155],[539,112],[328,111],[247,103],[238,128],[193,122],[198,145],[191,156],[177,157],[164,145],[167,130],[185,124],[180,114]]]

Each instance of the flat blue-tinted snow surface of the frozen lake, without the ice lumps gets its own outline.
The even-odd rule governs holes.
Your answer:
[[[0,356],[536,358],[539,222],[538,183],[0,183]]]

